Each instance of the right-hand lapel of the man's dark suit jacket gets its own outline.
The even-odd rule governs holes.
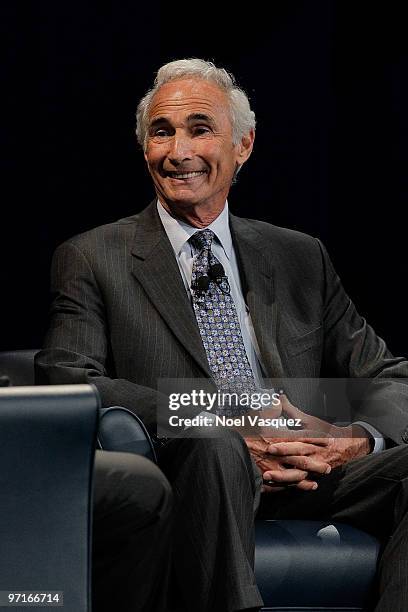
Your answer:
[[[278,311],[270,244],[245,219],[230,215],[230,227],[241,269],[242,288],[251,314],[268,378],[283,377],[277,348]],[[268,258],[265,257],[268,253]]]

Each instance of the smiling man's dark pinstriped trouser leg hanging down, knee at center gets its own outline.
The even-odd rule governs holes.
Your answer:
[[[206,438],[170,440],[159,454],[174,496],[170,600],[177,612],[259,607],[253,567],[261,474],[238,433],[204,431]]]

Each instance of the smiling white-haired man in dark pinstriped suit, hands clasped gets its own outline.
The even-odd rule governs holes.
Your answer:
[[[408,376],[407,361],[357,314],[318,240],[229,213],[255,136],[231,75],[198,59],[163,66],[139,104],[137,136],[157,198],[57,250],[52,319],[37,358],[42,382],[92,381],[103,405],[126,406],[154,430],[160,379],[256,390],[274,377]],[[384,542],[393,535],[376,610],[406,609],[407,390],[391,383],[379,393],[388,412],[373,408],[330,436],[198,430],[162,440],[159,465],[175,504],[169,606],[260,608],[260,506],[271,518],[330,517]],[[306,430],[327,433],[285,396],[281,407],[301,415]]]

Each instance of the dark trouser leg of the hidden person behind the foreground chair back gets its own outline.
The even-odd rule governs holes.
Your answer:
[[[96,451],[94,612],[166,610],[171,510],[170,485],[154,463]]]

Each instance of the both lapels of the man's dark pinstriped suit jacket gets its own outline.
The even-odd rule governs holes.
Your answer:
[[[245,220],[230,215],[242,287],[251,313],[262,362],[269,378],[283,376],[276,338],[278,312],[270,244]],[[153,201],[139,216],[132,248],[132,272],[180,343],[211,378],[197,322],[172,246]]]

